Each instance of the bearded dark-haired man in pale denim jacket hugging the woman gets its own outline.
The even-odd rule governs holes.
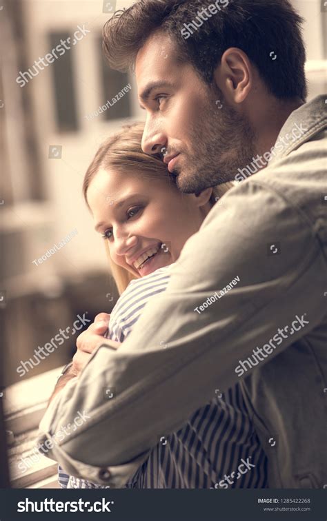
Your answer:
[[[239,185],[121,349],[101,323],[79,337],[75,369],[88,364],[59,384],[40,436],[88,411],[50,451],[75,476],[122,486],[161,436],[241,381],[270,487],[327,482],[325,98],[304,104],[300,22],[287,0],[143,0],[105,26],[111,65],[135,65],[143,150],[183,192]]]

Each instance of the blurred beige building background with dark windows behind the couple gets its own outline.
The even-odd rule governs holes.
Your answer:
[[[101,311],[110,312],[117,299],[103,240],[93,229],[81,185],[103,139],[123,123],[144,118],[135,77],[110,70],[101,52],[103,24],[112,12],[132,3],[0,0],[0,382],[3,388],[16,384],[7,395],[4,389],[2,393],[14,436],[37,425],[41,409],[30,416],[26,411],[35,408],[36,396],[48,398],[54,374],[72,358],[79,333],[70,334],[23,375],[17,372],[21,362],[61,328],[72,329],[77,315],[87,313],[93,320]],[[327,90],[327,2],[292,3],[306,19],[312,99]],[[33,70],[31,77],[26,73],[80,28],[88,32],[80,32],[83,37],[70,50],[43,70]],[[128,94],[100,114],[99,108],[128,84]],[[37,261],[74,230],[58,252]],[[23,424],[17,423],[17,414]]]

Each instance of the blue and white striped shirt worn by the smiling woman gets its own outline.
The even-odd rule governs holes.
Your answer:
[[[130,282],[110,316],[111,340],[126,339],[148,300],[166,289],[169,269],[166,266]],[[158,440],[126,488],[266,488],[266,467],[266,455],[237,384],[225,394],[218,393],[179,431]],[[59,484],[62,488],[107,488],[68,476],[60,467]]]

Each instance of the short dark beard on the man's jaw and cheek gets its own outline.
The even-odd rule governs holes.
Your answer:
[[[215,103],[217,96],[222,100],[221,109]],[[206,105],[199,124],[190,132],[194,152],[184,154],[183,167],[172,172],[177,175],[177,187],[186,194],[234,181],[237,169],[255,156],[255,133],[248,120],[227,105],[221,92],[210,94]]]

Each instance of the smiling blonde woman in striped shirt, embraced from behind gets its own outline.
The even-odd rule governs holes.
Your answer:
[[[119,342],[128,336],[146,303],[166,289],[170,265],[217,198],[231,187],[182,194],[161,156],[141,151],[142,133],[143,123],[130,125],[103,143],[83,183],[121,293],[108,331]],[[161,348],[166,348],[164,339]],[[241,472],[245,463],[247,471]],[[68,488],[101,488],[72,476],[68,480],[62,471],[59,482],[62,487],[68,482]],[[266,456],[239,386],[225,396],[218,392],[177,433],[158,435],[157,446],[126,487],[266,487]]]

